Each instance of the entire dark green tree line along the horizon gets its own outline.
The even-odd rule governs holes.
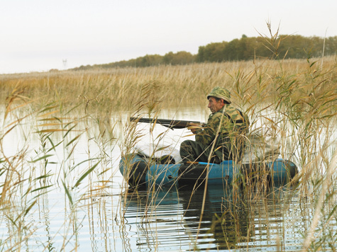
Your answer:
[[[211,42],[200,46],[197,55],[190,52],[168,52],[162,55],[145,55],[136,59],[109,64],[77,67],[74,70],[111,67],[150,67],[160,64],[181,65],[195,62],[228,62],[254,58],[304,59],[336,55],[337,36],[329,38],[304,37],[302,35],[280,35],[276,40],[242,35],[230,42]]]

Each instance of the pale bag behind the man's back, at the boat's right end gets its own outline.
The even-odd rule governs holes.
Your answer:
[[[242,163],[276,159],[280,155],[280,136],[270,127],[260,127],[248,134]]]

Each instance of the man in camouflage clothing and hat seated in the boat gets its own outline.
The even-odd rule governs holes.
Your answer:
[[[213,88],[207,99],[211,115],[204,127],[191,124],[189,129],[195,134],[195,141],[182,142],[180,156],[184,162],[214,164],[241,160],[250,124],[248,116],[231,104],[231,94],[226,88]]]

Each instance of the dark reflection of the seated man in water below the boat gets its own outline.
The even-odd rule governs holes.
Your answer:
[[[207,188],[205,210],[201,218],[201,204],[204,188],[194,195],[184,191],[182,195],[190,200],[189,205],[183,204],[184,216],[193,220],[186,226],[197,230],[201,219],[197,247],[213,247],[216,249],[236,248],[236,244],[245,242],[248,235],[248,214],[242,202],[239,202],[240,192],[229,188],[211,186]],[[208,241],[209,240],[209,241]],[[211,246],[211,244],[212,246]]]

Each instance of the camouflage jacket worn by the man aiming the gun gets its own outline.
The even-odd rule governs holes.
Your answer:
[[[210,146],[215,141],[214,153],[221,160],[240,159],[249,127],[248,116],[231,104],[209,115],[209,120],[195,136],[197,142]]]

